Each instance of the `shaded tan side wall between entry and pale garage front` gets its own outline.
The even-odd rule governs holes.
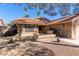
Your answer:
[[[72,37],[72,24],[71,23],[59,23],[51,25],[52,28],[57,29],[59,36],[61,37]]]

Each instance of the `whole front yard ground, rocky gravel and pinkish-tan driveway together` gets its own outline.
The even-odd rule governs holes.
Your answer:
[[[27,38],[0,38],[0,56],[78,56],[79,46],[57,42],[56,39],[43,38],[30,41]],[[48,39],[48,40],[47,40]],[[44,41],[45,40],[45,41]],[[47,41],[46,41],[47,40]],[[52,41],[50,41],[52,40]]]

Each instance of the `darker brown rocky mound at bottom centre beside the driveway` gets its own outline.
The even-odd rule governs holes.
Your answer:
[[[27,54],[30,56],[54,56],[55,53],[49,49],[47,49],[46,47],[43,46],[34,46],[27,51]]]

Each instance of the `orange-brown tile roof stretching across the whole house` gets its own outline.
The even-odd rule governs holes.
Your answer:
[[[52,25],[52,24],[59,24],[59,23],[66,23],[66,22],[72,22],[72,20],[76,17],[79,17],[79,14],[75,14],[72,16],[66,16],[57,20],[52,20],[52,21],[48,21],[48,19],[46,20],[40,20],[43,17],[36,17],[34,19],[31,18],[19,18],[14,20],[12,23],[13,24],[35,24],[35,25]]]

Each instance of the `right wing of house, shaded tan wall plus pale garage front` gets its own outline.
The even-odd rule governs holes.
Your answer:
[[[61,36],[79,38],[79,16],[74,17],[71,21],[53,23],[51,27],[58,29]]]

